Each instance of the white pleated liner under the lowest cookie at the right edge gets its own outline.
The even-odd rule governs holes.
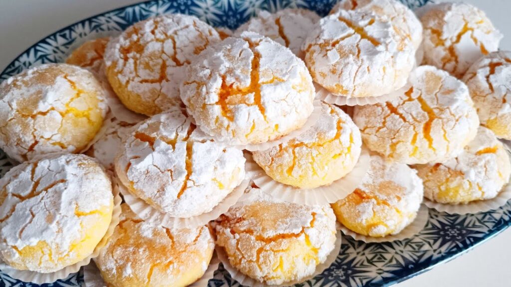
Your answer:
[[[504,206],[511,199],[511,184],[506,184],[500,193],[492,199],[478,200],[467,204],[444,204],[424,198],[427,207],[449,214],[468,214],[485,212]]]

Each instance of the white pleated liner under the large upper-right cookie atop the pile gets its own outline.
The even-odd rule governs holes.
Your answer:
[[[361,97],[361,98],[347,98],[342,95],[335,95],[327,89],[321,87],[319,84],[314,84],[316,87],[316,99],[329,104],[339,106],[365,106],[383,103],[397,97],[397,94],[392,92],[381,95],[380,97]]]

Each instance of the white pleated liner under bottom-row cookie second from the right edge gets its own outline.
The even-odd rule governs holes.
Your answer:
[[[396,241],[396,240],[404,240],[407,238],[413,237],[415,234],[421,232],[422,229],[424,229],[424,226],[426,226],[426,223],[428,223],[429,218],[429,210],[424,205],[421,204],[421,208],[419,208],[419,211],[417,211],[417,216],[413,220],[412,223],[410,223],[407,227],[405,227],[401,232],[394,235],[387,235],[385,237],[371,237],[366,236],[362,234],[358,234],[350,229],[347,229],[344,225],[338,224],[338,229],[342,231],[344,235],[348,235],[353,237],[354,240],[360,240],[365,243],[381,243],[381,242],[390,242],[390,241]]]

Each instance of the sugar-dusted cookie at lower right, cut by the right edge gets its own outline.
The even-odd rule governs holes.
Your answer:
[[[509,181],[511,163],[495,134],[479,127],[476,138],[456,158],[416,165],[424,196],[432,201],[463,204],[496,197]]]

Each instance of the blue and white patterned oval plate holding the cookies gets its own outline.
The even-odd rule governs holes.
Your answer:
[[[412,8],[429,0],[401,0]],[[134,22],[161,13],[196,15],[217,27],[236,28],[257,9],[276,11],[303,7],[327,14],[335,0],[159,0],[127,6],[68,26],[31,46],[0,75],[0,82],[32,66],[61,62],[74,47],[85,40],[115,35]],[[0,151],[0,175],[12,164]],[[511,224],[511,203],[492,211],[450,215],[429,211],[425,228],[413,238],[390,243],[365,244],[343,238],[341,252],[334,264],[314,279],[298,286],[382,286],[403,281],[450,260],[500,233]],[[65,280],[42,286],[81,286],[82,272]],[[239,286],[220,267],[212,286]],[[0,271],[0,287],[35,286],[14,280]]]

